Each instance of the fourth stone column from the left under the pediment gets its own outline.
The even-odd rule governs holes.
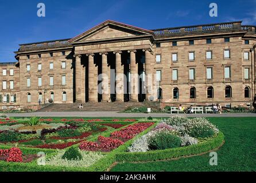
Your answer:
[[[124,77],[123,77],[123,65],[121,60],[122,51],[114,51],[115,54],[115,81],[116,81],[116,101],[124,102],[123,96],[123,84],[124,84]]]

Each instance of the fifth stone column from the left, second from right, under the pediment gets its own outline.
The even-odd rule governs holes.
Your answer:
[[[138,63],[136,63],[135,53],[136,50],[128,51],[130,52],[130,68],[131,68],[131,82],[130,82],[130,92],[131,101],[138,102]]]

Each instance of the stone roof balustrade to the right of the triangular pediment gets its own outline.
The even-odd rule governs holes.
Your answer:
[[[207,33],[214,31],[228,30],[246,30],[255,33],[255,26],[242,26],[241,22],[216,23],[198,26],[173,27],[166,29],[155,29],[154,34],[157,36],[170,36],[180,34]]]

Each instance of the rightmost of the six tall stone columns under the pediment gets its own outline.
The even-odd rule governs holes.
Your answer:
[[[148,101],[150,96],[154,96],[153,93],[153,63],[154,63],[154,55],[151,49],[143,49],[145,51],[145,85],[146,85],[146,98]]]

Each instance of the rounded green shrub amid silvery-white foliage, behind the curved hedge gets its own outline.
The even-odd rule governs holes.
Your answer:
[[[152,150],[177,148],[181,145],[180,137],[166,130],[162,130],[153,137],[150,137],[148,142],[149,149]]]

